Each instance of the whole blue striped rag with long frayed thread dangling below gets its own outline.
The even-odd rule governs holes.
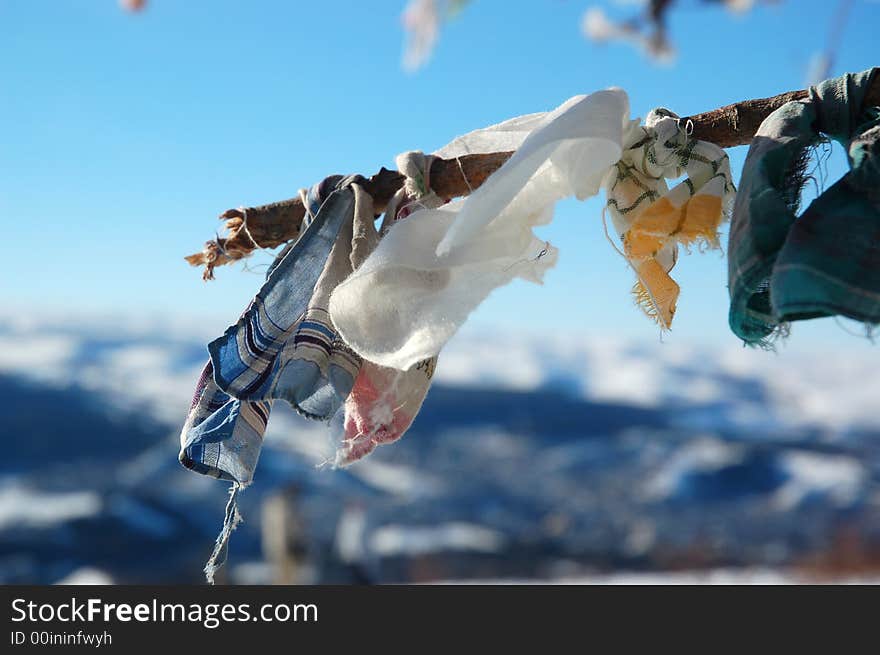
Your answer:
[[[329,420],[360,372],[362,360],[338,337],[327,302],[377,238],[362,179],[332,176],[302,193],[300,237],[278,254],[239,321],[208,345],[179,459],[232,483],[205,566],[211,583],[240,521],[238,495],[253,479],[273,402],[284,399],[307,418]]]

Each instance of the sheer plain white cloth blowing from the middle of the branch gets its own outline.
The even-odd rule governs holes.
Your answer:
[[[610,89],[439,150],[449,159],[521,144],[467,199],[394,224],[336,288],[330,314],[345,342],[365,359],[406,370],[436,356],[496,287],[515,277],[540,284],[557,252],[532,228],[550,221],[558,200],[598,192],[620,159],[628,116],[626,93]]]

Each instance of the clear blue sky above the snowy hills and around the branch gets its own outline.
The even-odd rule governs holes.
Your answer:
[[[413,75],[399,63],[404,4],[150,0],[131,15],[116,0],[0,0],[7,306],[201,316],[221,330],[262,278],[236,266],[206,285],[183,261],[220,211],[291,197],[329,173],[370,174],[398,152],[611,85],[641,116],[800,88],[836,5],[786,0],[737,17],[681,0],[678,60],[664,68],[581,36],[589,5],[631,8],[474,0]],[[858,0],[835,73],[880,64],[878,23],[880,3]],[[731,151],[737,178],[745,150]],[[841,170],[838,158],[829,173]],[[542,231],[561,250],[546,285],[496,291],[474,323],[656,339],[600,208],[560,204]],[[683,257],[675,275],[683,293],[667,339],[733,340],[722,256]],[[827,323],[801,334],[847,339]]]

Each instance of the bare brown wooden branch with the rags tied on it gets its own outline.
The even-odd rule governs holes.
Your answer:
[[[781,93],[772,98],[744,100],[685,117],[693,125],[693,135],[722,148],[746,145],[758,127],[776,109],[792,100],[808,95],[806,89]],[[868,89],[865,106],[880,105],[880,75]],[[466,196],[479,187],[492,173],[501,168],[512,152],[465,155],[458,159],[437,159],[431,166],[431,188],[442,198]],[[391,197],[403,186],[404,178],[397,171],[382,168],[365,184],[373,197],[376,211],[382,211]],[[305,208],[299,198],[269,205],[229,209],[220,215],[226,220],[228,236],[205,244],[202,252],[186,257],[193,266],[204,266],[203,278],[214,277],[214,268],[242,259],[258,248],[274,248],[299,236]]]

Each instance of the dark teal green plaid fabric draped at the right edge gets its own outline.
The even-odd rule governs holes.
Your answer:
[[[864,98],[880,69],[810,89],[758,129],[728,243],[730,327],[765,345],[779,326],[842,315],[880,322],[880,109]],[[823,135],[850,171],[796,216],[809,149]]]

